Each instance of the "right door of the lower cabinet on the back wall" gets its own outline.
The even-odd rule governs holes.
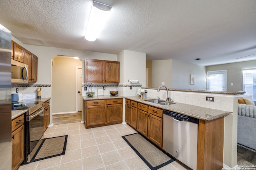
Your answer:
[[[107,123],[122,122],[122,104],[107,105]]]

